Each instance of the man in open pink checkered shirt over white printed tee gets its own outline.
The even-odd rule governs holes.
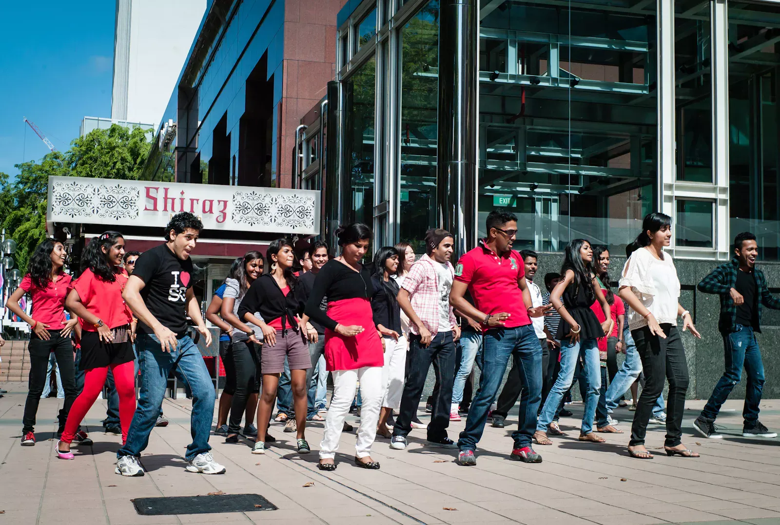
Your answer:
[[[455,341],[460,337],[460,327],[452,306],[449,291],[455,278],[452,258],[452,234],[440,228],[427,231],[423,255],[400,283],[398,303],[409,316],[410,364],[403,388],[401,409],[395,420],[391,448],[406,448],[406,434],[412,430],[412,418],[417,415],[425,377],[433,363],[441,388],[434,398],[431,423],[427,428],[428,443],[434,446],[455,448],[456,443],[447,437],[449,405],[452,402],[452,384],[455,381]]]

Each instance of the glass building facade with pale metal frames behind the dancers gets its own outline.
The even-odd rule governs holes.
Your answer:
[[[621,253],[658,209],[675,220],[675,257],[727,259],[751,230],[780,259],[777,3],[471,0],[459,23],[478,35],[463,45],[473,93],[440,74],[452,3],[353,0],[339,13],[331,216],[418,250],[427,228],[449,227],[438,150],[454,93],[478,108],[454,130],[474,137],[463,187],[476,209],[458,212],[474,239],[505,209],[517,248],[587,238]]]

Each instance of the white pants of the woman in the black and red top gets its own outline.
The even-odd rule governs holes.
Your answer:
[[[360,380],[360,427],[357,429],[356,456],[371,455],[371,445],[377,437],[379,409],[385,388],[382,384],[381,366],[363,366],[358,370],[335,370],[333,372],[333,397],[325,418],[325,432],[320,443],[320,459],[334,459],[339,450],[344,427],[344,418],[355,398],[357,381]]]

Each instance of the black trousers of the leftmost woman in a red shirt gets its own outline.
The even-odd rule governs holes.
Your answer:
[[[62,390],[65,391],[65,402],[58,415],[60,428],[65,427],[70,406],[79,395],[76,390],[76,367],[73,364],[73,342],[70,338],[63,338],[60,335],[60,330],[49,330],[49,334],[51,334],[51,338],[48,341],[38,338],[35,334],[30,334],[30,345],[27,346],[27,350],[30,352],[30,379],[22,419],[23,434],[35,429],[35,415],[38,412],[38,403],[41,402],[44,384],[48,379],[46,369],[49,354],[52,351],[57,359],[59,375],[62,377]]]

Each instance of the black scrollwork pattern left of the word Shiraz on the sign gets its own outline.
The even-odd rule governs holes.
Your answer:
[[[94,217],[135,220],[139,199],[138,187],[75,180],[55,182],[51,188],[51,213],[82,220]]]

